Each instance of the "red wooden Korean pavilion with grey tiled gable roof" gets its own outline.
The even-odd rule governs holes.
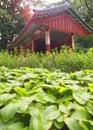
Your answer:
[[[61,6],[34,10],[34,15],[20,32],[18,37],[9,44],[11,50],[15,46],[22,47],[24,51],[51,52],[51,49],[64,44],[74,48],[74,35],[88,36],[93,33],[93,28],[84,22],[75,11],[63,4]]]

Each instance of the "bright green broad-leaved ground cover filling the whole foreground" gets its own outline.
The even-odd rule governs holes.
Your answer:
[[[0,130],[93,130],[93,71],[0,67]]]

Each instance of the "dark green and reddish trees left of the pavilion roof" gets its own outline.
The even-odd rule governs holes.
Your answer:
[[[5,49],[31,18],[29,6],[32,3],[39,5],[43,2],[42,0],[28,0],[28,3],[26,0],[0,0],[0,49]]]

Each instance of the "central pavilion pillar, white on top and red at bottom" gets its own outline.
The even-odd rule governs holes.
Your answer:
[[[51,46],[50,46],[50,31],[45,32],[45,44],[46,44],[46,51],[50,52],[51,51]]]

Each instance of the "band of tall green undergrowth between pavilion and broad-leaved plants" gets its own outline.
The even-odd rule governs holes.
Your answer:
[[[72,52],[67,50],[61,50],[60,53],[54,51],[52,53],[36,53],[31,54],[30,52],[20,55],[14,52],[14,55],[9,54],[7,51],[0,53],[0,66],[8,68],[47,68],[60,69],[64,72],[74,72],[84,69],[93,69],[93,48],[84,51]]]

